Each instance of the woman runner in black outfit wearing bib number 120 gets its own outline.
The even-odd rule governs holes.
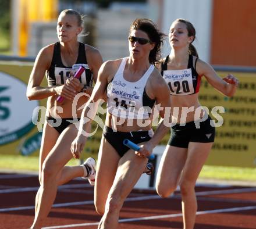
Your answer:
[[[172,108],[179,108],[180,115],[172,113],[177,124],[171,128],[171,137],[159,165],[157,192],[167,197],[180,185],[184,229],[194,228],[197,212],[195,182],[215,136],[215,127],[208,115],[205,121],[200,122],[200,128],[197,128],[197,122],[203,115],[201,113],[197,117],[195,112],[195,109],[201,109],[198,102],[201,77],[204,76],[212,87],[226,96],[233,96],[238,85],[236,77],[229,74],[222,80],[210,65],[198,58],[191,44],[194,39],[193,24],[184,19],[175,20],[169,31],[172,50],[159,66],[170,87]],[[189,112],[183,115],[187,108]]]

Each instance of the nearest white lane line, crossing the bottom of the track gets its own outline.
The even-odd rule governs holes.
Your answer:
[[[256,206],[246,206],[246,207],[232,207],[227,209],[215,209],[215,210],[206,210],[197,212],[197,215],[200,214],[214,214],[214,213],[225,213],[225,212],[239,212],[244,210],[255,210]],[[147,217],[138,217],[131,219],[121,219],[119,223],[134,222],[134,221],[143,221],[143,220],[156,220],[156,219],[166,219],[166,218],[175,218],[182,217],[182,213],[177,214],[163,214],[162,216],[147,216]],[[94,226],[99,223],[80,223],[80,224],[70,224],[62,226],[52,226],[52,227],[43,227],[43,229],[55,229],[55,228],[69,228],[69,227],[85,227],[85,226]]]

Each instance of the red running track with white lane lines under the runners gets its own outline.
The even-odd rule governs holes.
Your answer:
[[[0,228],[29,228],[37,176],[0,173]],[[195,229],[256,228],[256,187],[197,185]],[[45,228],[97,228],[93,187],[77,179],[59,187]],[[134,190],[123,205],[119,228],[183,228],[179,192],[166,199]]]

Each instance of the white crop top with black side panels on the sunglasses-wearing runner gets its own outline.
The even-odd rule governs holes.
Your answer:
[[[108,84],[107,110],[113,116],[125,119],[148,119],[151,112],[148,108],[152,109],[155,99],[148,97],[145,92],[145,85],[154,70],[154,66],[150,65],[140,80],[130,82],[123,78],[127,59],[122,59],[118,71]]]

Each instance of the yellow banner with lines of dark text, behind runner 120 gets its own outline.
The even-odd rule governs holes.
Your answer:
[[[219,72],[221,77],[226,72]],[[214,106],[223,106],[223,124],[216,127],[215,143],[207,164],[218,166],[256,166],[256,76],[255,73],[232,73],[239,78],[236,94],[226,97],[216,91],[204,78],[199,101],[211,112]],[[211,113],[210,113],[211,115]],[[214,116],[211,116],[215,119]],[[215,119],[216,120],[216,119]]]

